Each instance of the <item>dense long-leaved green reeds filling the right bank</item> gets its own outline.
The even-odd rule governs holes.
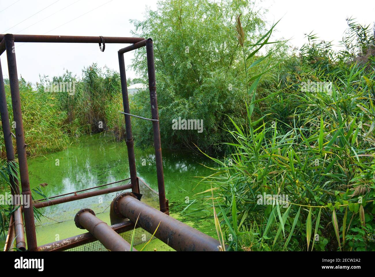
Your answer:
[[[231,249],[375,250],[375,73],[347,58],[309,36],[301,56],[274,74],[275,97],[254,92],[248,123],[231,120],[232,154],[213,159],[216,173],[201,181],[220,199]],[[308,81],[332,82],[332,90],[302,90]],[[263,194],[288,200],[263,205]],[[251,240],[233,236],[239,221]]]

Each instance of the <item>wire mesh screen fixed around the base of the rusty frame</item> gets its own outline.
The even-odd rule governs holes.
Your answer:
[[[67,197],[75,194],[81,194],[90,191],[96,191],[99,189],[107,189],[115,186],[127,185],[130,183],[130,179],[121,180],[115,183],[110,183],[103,186],[97,186],[94,188],[84,189],[79,192],[72,192],[65,195],[59,195],[56,197],[50,197],[49,200],[56,198]],[[74,200],[67,203],[61,203],[49,207],[43,207],[38,210],[43,214],[39,216],[40,220],[35,218],[35,226],[42,227],[51,224],[57,224],[56,228],[58,229],[58,223],[65,221],[72,221],[76,213],[81,209],[92,209],[95,214],[109,212],[110,204],[113,198],[120,193],[130,192],[131,189],[125,189],[123,191],[111,192],[108,194],[103,194],[99,196],[87,197],[80,200]],[[141,201],[148,206],[151,206],[159,210],[159,195],[156,191],[151,189],[146,183],[139,179],[139,193],[142,194]],[[132,239],[133,230],[120,233],[120,235],[130,243]],[[142,228],[136,228],[134,233],[134,245],[142,244],[150,240],[151,234]],[[89,242],[84,245],[70,248],[65,251],[107,251],[107,249],[99,242]]]

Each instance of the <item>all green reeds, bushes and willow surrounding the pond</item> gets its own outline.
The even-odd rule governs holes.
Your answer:
[[[214,205],[229,250],[375,250],[374,30],[350,18],[341,50],[313,33],[292,50],[265,17],[248,0],[166,0],[133,21],[135,36],[154,40],[163,148],[217,163],[200,180],[201,205],[186,206]],[[133,69],[140,79],[129,84],[147,83],[144,48]],[[29,156],[84,134],[124,139],[116,71],[93,64],[80,77],[40,79],[36,88],[20,80]],[[51,82],[75,91],[46,91]],[[130,110],[150,117],[148,90],[130,97]],[[172,129],[178,118],[203,120],[203,132]],[[151,125],[132,127],[135,144],[150,146]]]

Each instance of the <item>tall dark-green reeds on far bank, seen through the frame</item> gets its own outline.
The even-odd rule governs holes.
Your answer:
[[[71,82],[75,91],[68,93],[63,90],[49,92],[56,99],[60,112],[66,115],[65,131],[70,135],[79,136],[84,133],[99,133],[108,129],[115,130],[118,138],[123,138],[124,128],[121,126],[120,75],[108,68],[103,72],[96,64],[84,68],[81,79],[66,71],[63,76],[48,76],[41,79],[38,91],[44,91],[49,83]],[[117,110],[114,110],[117,109]]]

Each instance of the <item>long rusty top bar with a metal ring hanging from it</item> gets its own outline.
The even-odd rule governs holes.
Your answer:
[[[0,35],[3,39],[4,34]],[[105,43],[136,43],[144,38],[104,36]],[[99,43],[100,36],[14,35],[14,42]]]

